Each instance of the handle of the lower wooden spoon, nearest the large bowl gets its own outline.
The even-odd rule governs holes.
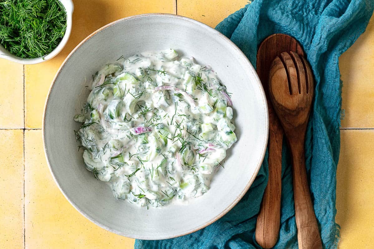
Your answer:
[[[279,234],[281,220],[281,174],[283,131],[269,134],[269,180],[257,216],[256,241],[263,248],[272,248]]]

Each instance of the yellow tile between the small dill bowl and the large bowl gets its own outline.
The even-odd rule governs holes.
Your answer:
[[[96,29],[126,16],[161,12],[175,14],[175,0],[74,0],[73,28],[67,46],[44,63],[25,66],[25,126],[40,128],[45,99],[65,57]]]

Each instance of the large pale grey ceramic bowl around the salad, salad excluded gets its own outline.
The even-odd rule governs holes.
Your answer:
[[[188,205],[139,208],[114,198],[111,189],[85,169],[73,121],[92,74],[120,56],[174,48],[211,65],[232,94],[238,141],[211,189]],[[120,19],[87,37],[59,69],[46,102],[43,138],[48,165],[61,192],[95,224],[126,237],[166,239],[203,228],[226,214],[254,181],[266,150],[269,120],[260,80],[246,56],[205,24],[168,14]]]

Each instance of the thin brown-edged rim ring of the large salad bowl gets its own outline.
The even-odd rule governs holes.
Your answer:
[[[76,52],[76,50],[78,50],[84,43],[86,43],[86,41],[88,41],[94,35],[98,34],[102,30],[104,30],[104,29],[106,29],[106,28],[108,28],[108,27],[110,27],[112,25],[115,25],[115,24],[117,24],[119,22],[126,21],[126,20],[129,20],[129,19],[147,18],[147,17],[152,17],[152,16],[165,16],[165,17],[168,17],[168,18],[180,19],[180,20],[183,20],[183,21],[193,22],[194,24],[200,25],[203,28],[211,29],[212,32],[218,34],[221,38],[223,38],[224,40],[226,40],[227,43],[230,44],[234,49],[238,50],[238,52],[242,56],[242,59],[244,59],[248,63],[249,68],[251,69],[252,72],[254,72],[255,82],[257,83],[257,86],[260,88],[260,93],[261,93],[261,97],[262,97],[263,104],[264,104],[264,109],[265,109],[264,110],[265,111],[265,120],[264,121],[265,121],[265,126],[266,127],[265,127],[264,141],[263,141],[263,144],[261,145],[261,147],[262,147],[261,157],[260,157],[260,160],[258,161],[258,163],[256,165],[255,174],[252,175],[252,177],[250,178],[250,180],[246,184],[245,188],[242,190],[242,192],[236,197],[236,199],[229,206],[227,206],[223,211],[221,211],[220,214],[218,214],[217,216],[215,216],[211,220],[205,222],[202,225],[199,225],[198,227],[192,228],[192,229],[190,229],[189,231],[187,231],[187,232],[185,232],[183,234],[176,234],[176,235],[167,236],[167,237],[158,237],[156,239],[154,237],[142,236],[141,234],[139,234],[139,236],[133,236],[133,237],[131,237],[133,239],[142,239],[142,240],[162,240],[162,239],[171,239],[171,238],[175,238],[175,237],[179,237],[179,236],[184,236],[186,234],[190,234],[190,233],[198,231],[198,230],[200,230],[202,228],[207,227],[208,225],[210,225],[213,222],[219,220],[221,217],[223,217],[225,214],[227,214],[227,212],[229,212],[239,202],[239,200],[242,199],[242,197],[245,195],[245,193],[248,191],[249,187],[251,187],[252,183],[254,182],[255,178],[257,177],[258,171],[260,170],[262,162],[263,162],[264,157],[265,157],[265,153],[266,153],[266,149],[267,149],[267,142],[268,142],[268,138],[269,138],[269,112],[268,112],[267,100],[266,100],[266,95],[265,95],[265,91],[264,91],[263,85],[261,84],[260,78],[258,77],[256,70],[252,66],[252,63],[244,55],[244,53],[242,52],[242,50],[240,50],[239,47],[237,47],[236,44],[234,44],[229,38],[227,38],[225,35],[223,35],[219,31],[215,30],[214,28],[212,28],[212,27],[210,27],[210,26],[208,26],[206,24],[203,24],[202,22],[199,22],[199,21],[191,19],[191,18],[187,18],[185,16],[175,15],[175,14],[168,14],[168,13],[147,13],[147,14],[133,15],[133,16],[128,16],[128,17],[125,17],[125,18],[121,18],[121,19],[118,19],[118,20],[116,20],[114,22],[111,22],[111,23],[109,23],[107,25],[104,25],[103,27],[101,27],[101,28],[97,29],[96,31],[94,31],[92,34],[88,35],[88,37],[86,37],[83,41],[81,41],[69,53],[69,55],[65,58],[64,62],[62,62],[60,68],[56,72],[56,75],[53,78],[52,84],[51,84],[51,86],[49,88],[49,91],[48,91],[48,94],[47,94],[47,98],[46,98],[46,102],[45,102],[45,106],[44,106],[44,112],[43,112],[43,120],[42,120],[42,122],[43,122],[43,124],[42,124],[43,147],[44,147],[44,152],[45,152],[45,157],[46,157],[47,165],[49,167],[50,173],[52,174],[53,180],[57,184],[59,190],[64,195],[64,197],[68,200],[68,202],[70,202],[70,204],[77,211],[79,211],[80,214],[82,214],[89,221],[93,222],[94,224],[98,225],[99,227],[104,228],[105,230],[110,231],[112,233],[116,233],[116,234],[119,234],[119,235],[124,236],[124,237],[129,237],[129,235],[126,235],[122,231],[118,231],[116,229],[110,228],[107,225],[104,225],[101,222],[96,221],[95,219],[93,219],[92,217],[90,217],[88,214],[86,214],[85,211],[83,211],[82,209],[80,209],[80,207],[77,206],[76,203],[74,203],[74,201],[72,199],[70,199],[67,196],[67,194],[65,193],[65,191],[61,188],[59,182],[56,179],[55,173],[54,173],[54,171],[52,169],[52,166],[51,166],[50,160],[49,160],[49,156],[48,156],[49,152],[48,152],[48,148],[46,146],[46,133],[45,133],[45,130],[46,130],[46,127],[45,127],[45,125],[46,125],[46,119],[45,118],[46,118],[47,104],[48,104],[49,99],[50,99],[50,93],[52,92],[53,86],[56,83],[56,79],[59,76],[59,74],[62,71],[62,69],[64,68],[65,64],[70,59],[70,57],[73,55],[73,53]]]

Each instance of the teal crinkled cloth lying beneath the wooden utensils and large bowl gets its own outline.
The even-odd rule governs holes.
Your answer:
[[[339,56],[365,31],[372,0],[254,0],[216,29],[255,66],[258,45],[283,33],[303,46],[315,75],[315,100],[306,135],[306,167],[324,248],[337,248],[336,168],[340,150]],[[291,163],[283,146],[281,230],[275,248],[298,248]],[[206,228],[168,240],[137,240],[136,249],[246,249],[255,242],[257,213],[267,184],[267,154],[251,188],[224,217]],[[162,227],[160,227],[162,229]]]

